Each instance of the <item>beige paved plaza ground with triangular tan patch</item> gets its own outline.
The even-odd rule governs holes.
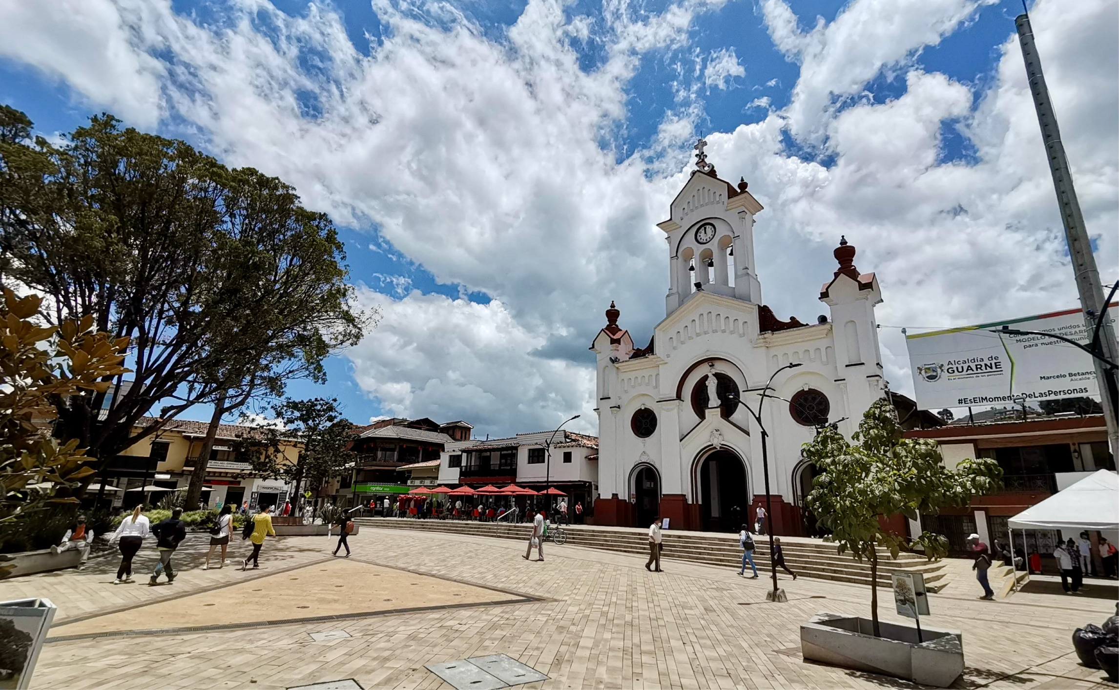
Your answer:
[[[819,611],[867,615],[863,586],[782,577],[789,602],[770,604],[769,580],[733,569],[666,560],[655,574],[642,558],[552,544],[535,563],[516,541],[375,528],[350,538],[348,560],[330,557],[332,539],[285,537],[267,541],[260,570],[201,570],[207,540],[191,535],[180,548],[173,585],[145,584],[150,545],[135,584],[112,584],[114,556],[0,583],[0,599],[45,596],[59,607],[31,687],[265,689],[352,678],[434,689],[449,686],[424,664],[502,653],[549,677],[526,687],[916,687],[801,659],[799,624]],[[1042,586],[980,602],[960,571],[930,597],[925,620],[963,632],[956,687],[1116,688],[1078,664],[1070,640],[1115,613],[1113,588],[1074,597]],[[881,596],[882,618],[897,621],[890,593]],[[311,637],[333,631],[348,636]]]

